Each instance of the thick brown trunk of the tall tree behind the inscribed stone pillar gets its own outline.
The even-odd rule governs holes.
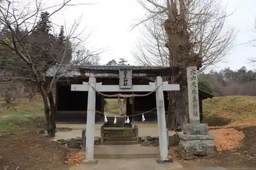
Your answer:
[[[190,58],[191,44],[186,27],[182,1],[180,1],[178,14],[177,4],[172,2],[168,6],[169,17],[164,22],[169,50],[170,67],[178,66],[180,72],[174,75],[171,83],[179,84],[179,91],[169,92],[168,128],[176,130],[178,127],[188,122],[188,96],[187,96],[187,76],[186,67]]]

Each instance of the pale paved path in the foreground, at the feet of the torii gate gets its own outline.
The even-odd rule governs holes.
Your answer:
[[[182,165],[174,161],[172,163],[161,163],[158,164],[156,159],[100,159],[98,160],[98,164],[83,164],[79,163],[74,166],[71,166],[69,170],[78,170],[78,169],[90,169],[90,170],[159,170],[159,169],[175,169],[175,170],[184,170]]]

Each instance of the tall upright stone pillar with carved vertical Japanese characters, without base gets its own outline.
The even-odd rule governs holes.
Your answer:
[[[200,124],[197,67],[187,67],[187,93],[189,123]]]

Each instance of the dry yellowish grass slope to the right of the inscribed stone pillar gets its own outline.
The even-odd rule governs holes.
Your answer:
[[[256,124],[256,97],[238,95],[206,99],[203,102],[203,116],[209,126]]]

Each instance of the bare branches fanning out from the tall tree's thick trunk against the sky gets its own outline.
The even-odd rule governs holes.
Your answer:
[[[236,33],[232,29],[223,32],[225,19],[231,14],[227,15],[217,0],[188,0],[185,2],[179,0],[175,1],[176,3],[166,1],[167,5],[155,0],[147,0],[146,2],[147,4],[139,1],[149,14],[146,19],[137,24],[144,23],[146,28],[145,37],[140,40],[143,41],[141,42],[144,44],[143,47],[138,46],[138,51],[133,53],[138,64],[173,65],[168,60],[176,55],[174,54],[175,46],[178,47],[184,43],[176,39],[173,44],[168,44],[164,22],[167,19],[182,18],[183,14],[186,16],[184,32],[187,32],[191,43],[190,54],[200,56],[199,60],[202,60],[201,71],[221,61],[229,52],[230,43],[236,37]],[[173,30],[172,34],[179,33],[175,33]],[[177,35],[177,37],[180,36]],[[186,60],[188,58],[185,60],[183,58],[183,62]],[[198,62],[196,61],[196,63]]]

